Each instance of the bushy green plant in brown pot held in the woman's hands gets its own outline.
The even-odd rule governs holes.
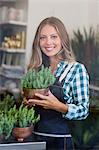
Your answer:
[[[33,98],[35,92],[47,95],[49,86],[53,85],[55,77],[50,67],[41,66],[40,70],[31,69],[21,78],[24,97]]]

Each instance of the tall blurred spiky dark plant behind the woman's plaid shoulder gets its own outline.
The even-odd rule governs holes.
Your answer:
[[[73,33],[71,45],[77,60],[84,63],[87,67],[91,83],[99,85],[99,82],[97,82],[99,81],[99,39],[97,39],[97,33],[93,27],[90,27],[88,31],[84,27],[83,31],[78,29],[73,31]]]

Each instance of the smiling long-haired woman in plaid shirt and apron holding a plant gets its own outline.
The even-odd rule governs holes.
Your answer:
[[[51,66],[55,86],[40,100],[29,99],[41,119],[35,127],[38,141],[46,141],[47,150],[72,150],[68,120],[82,120],[89,110],[89,77],[83,64],[76,62],[64,24],[55,17],[44,19],[37,28],[30,68]],[[68,136],[68,138],[66,138]]]

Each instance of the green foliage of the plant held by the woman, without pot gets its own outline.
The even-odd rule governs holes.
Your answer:
[[[39,71],[31,69],[21,78],[21,87],[28,89],[42,89],[49,87],[54,82],[55,77],[51,73],[51,68],[44,68],[42,65]]]

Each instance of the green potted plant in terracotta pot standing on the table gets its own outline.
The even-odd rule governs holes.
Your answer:
[[[35,115],[33,107],[28,108],[23,105],[20,105],[18,109],[13,107],[11,112],[15,119],[13,135],[18,141],[23,141],[32,134],[33,127],[40,117]]]

